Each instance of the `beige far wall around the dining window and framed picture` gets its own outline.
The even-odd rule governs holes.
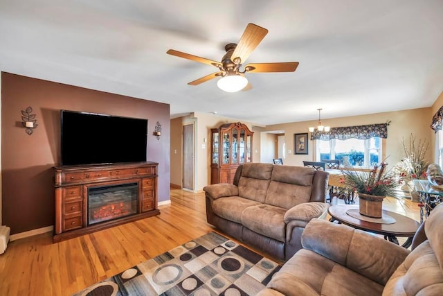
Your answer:
[[[334,128],[348,125],[386,123],[387,121],[390,121],[390,125],[388,126],[388,139],[386,139],[386,162],[392,166],[399,162],[403,156],[403,146],[401,145],[402,139],[407,141],[411,133],[414,134],[417,139],[426,139],[426,141],[431,141],[432,133],[430,132],[431,128],[429,128],[431,118],[431,108],[421,108],[396,112],[367,114],[363,116],[323,119],[322,123]],[[301,165],[303,160],[316,160],[314,159],[315,150],[313,141],[309,141],[309,155],[293,154],[293,134],[308,132],[308,127],[316,125],[316,123],[317,121],[302,121],[297,123],[284,123],[266,126],[266,130],[269,131],[284,130],[287,150],[287,157],[284,164],[297,166]],[[288,150],[291,150],[291,153],[288,153]],[[432,151],[428,150],[426,159],[431,160],[431,155]]]

